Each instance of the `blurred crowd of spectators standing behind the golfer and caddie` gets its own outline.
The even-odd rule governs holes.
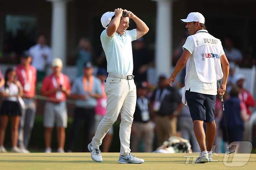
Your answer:
[[[184,40],[182,40],[183,42]],[[168,141],[169,137],[179,136],[190,141],[193,151],[200,151],[193,132],[193,122],[189,108],[181,102],[181,89],[184,80],[176,87],[169,87],[167,75],[160,75],[156,86],[147,82],[147,69],[154,66],[152,52],[146,48],[143,38],[134,42],[133,62],[135,82],[137,85],[137,104],[132,125],[131,148],[133,152],[152,152],[154,139],[156,147]],[[225,54],[230,61],[225,99],[225,114],[228,121],[230,142],[247,140],[250,108],[255,101],[244,88],[245,76],[235,73],[237,64],[241,64],[242,53],[233,47],[230,38],[224,40]],[[174,60],[180,56],[181,49],[174,51]],[[47,68],[52,71],[46,75]],[[35,95],[45,97],[44,123],[45,152],[51,153],[51,141],[54,125],[56,125],[58,148],[57,152],[73,152],[77,138],[82,135],[84,148],[97,130],[97,126],[106,114],[107,98],[104,81],[107,78],[106,59],[104,52],[96,57],[92,54],[91,43],[87,38],[79,40],[76,69],[77,78],[70,82],[62,73],[61,59],[53,58],[51,48],[46,45],[46,37],[39,35],[37,44],[30,47],[21,56],[21,63],[15,68],[8,68],[5,76],[0,72],[0,152],[7,152],[4,147],[5,130],[8,119],[11,120],[11,151],[29,153],[29,142],[32,133],[37,102]],[[96,71],[94,70],[96,68]],[[183,74],[184,75],[184,74]],[[36,90],[41,82],[40,92]],[[74,101],[73,122],[68,145],[65,147],[65,128],[67,128],[67,99]],[[216,100],[215,121],[216,152],[221,149],[222,141],[227,142],[224,131],[222,105]],[[84,133],[79,129],[84,124]],[[108,152],[114,134],[113,127],[103,140],[103,152]],[[55,136],[55,135],[54,135]],[[142,145],[143,147],[140,147]]]

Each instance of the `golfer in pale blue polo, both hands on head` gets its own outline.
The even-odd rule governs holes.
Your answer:
[[[129,19],[132,19],[137,29],[127,30]],[[136,106],[136,86],[133,73],[132,41],[145,35],[149,28],[131,11],[121,8],[115,12],[106,12],[101,17],[105,30],[100,35],[103,50],[107,58],[105,94],[107,95],[107,114],[98,125],[88,149],[95,162],[102,162],[99,146],[109,128],[121,113],[119,137],[121,142],[119,163],[143,163],[130,153],[130,135],[133,113]]]

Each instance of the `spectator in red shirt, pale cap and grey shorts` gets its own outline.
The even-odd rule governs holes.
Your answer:
[[[42,95],[48,97],[44,109],[44,127],[46,153],[51,153],[51,135],[56,119],[58,152],[64,152],[65,128],[67,127],[67,105],[66,99],[70,95],[70,83],[68,76],[61,73],[62,61],[54,58],[52,62],[53,73],[44,78],[42,84]]]

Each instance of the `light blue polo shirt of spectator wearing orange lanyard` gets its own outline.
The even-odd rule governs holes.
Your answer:
[[[87,84],[87,87],[89,87],[89,82]],[[95,76],[93,76],[92,93],[102,94],[101,82]],[[82,76],[75,79],[75,81],[72,85],[71,94],[78,94],[78,95],[85,95],[86,94],[86,92],[84,91],[84,83],[83,83],[83,80],[82,80]],[[97,105],[97,101],[93,97],[89,97],[89,99],[87,99],[87,100],[78,99],[78,100],[75,101],[75,106],[80,107],[80,108],[93,108],[96,105]]]

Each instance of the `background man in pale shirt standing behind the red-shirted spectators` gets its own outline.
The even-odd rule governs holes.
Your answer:
[[[37,69],[37,82],[42,82],[46,76],[46,68],[53,60],[51,48],[46,45],[46,37],[39,35],[37,44],[30,47],[30,56],[33,57],[32,66]]]

